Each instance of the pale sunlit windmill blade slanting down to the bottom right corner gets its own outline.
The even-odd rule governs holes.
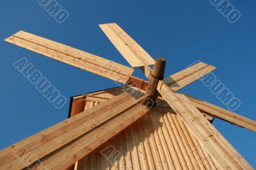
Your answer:
[[[253,169],[185,95],[173,93],[163,81],[157,90],[221,169]]]

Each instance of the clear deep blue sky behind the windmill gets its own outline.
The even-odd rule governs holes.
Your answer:
[[[2,0],[0,39],[23,30],[129,66],[98,26],[117,22],[153,58],[166,58],[166,76],[198,59],[217,66],[216,77],[241,100],[236,112],[256,120],[255,1],[230,0],[241,12],[241,18],[234,24],[210,1],[59,0],[58,3],[69,13],[63,24],[58,24],[35,0]],[[13,67],[15,61],[27,58],[68,100],[74,95],[116,86],[113,81],[4,41],[0,41],[0,50],[1,149],[64,120],[68,114],[68,103],[55,109]],[[144,79],[140,70],[136,69],[134,75]],[[227,109],[200,81],[182,92]],[[217,119],[214,125],[256,167],[255,132]]]

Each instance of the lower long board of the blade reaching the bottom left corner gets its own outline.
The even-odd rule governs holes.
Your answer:
[[[141,97],[138,101],[141,102],[144,99],[145,96]],[[73,164],[80,158],[84,157],[84,155],[87,155],[92,150],[100,146],[100,144],[124,130],[125,127],[131,125],[147,112],[148,109],[146,107],[141,109],[141,105],[136,104],[127,111],[118,114],[115,118],[104,123],[101,127],[95,128],[88,134],[85,134],[67,146],[64,146],[56,153],[52,153],[52,155],[42,159],[42,164],[48,169],[63,169],[68,167],[70,164]],[[35,168],[32,166],[32,169]]]

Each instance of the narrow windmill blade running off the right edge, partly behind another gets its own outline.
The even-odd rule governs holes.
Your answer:
[[[245,118],[244,116],[234,112],[227,111],[226,109],[218,107],[214,104],[190,97],[189,95],[186,95],[186,97],[190,100],[191,104],[195,105],[197,109],[203,111],[205,114],[209,114],[239,127],[248,128],[249,130],[256,132],[256,121]]]

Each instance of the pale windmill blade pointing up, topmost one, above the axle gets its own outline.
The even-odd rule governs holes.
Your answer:
[[[116,23],[99,26],[128,63],[132,67],[141,67],[148,77],[151,70],[148,65],[154,65],[154,59]]]

